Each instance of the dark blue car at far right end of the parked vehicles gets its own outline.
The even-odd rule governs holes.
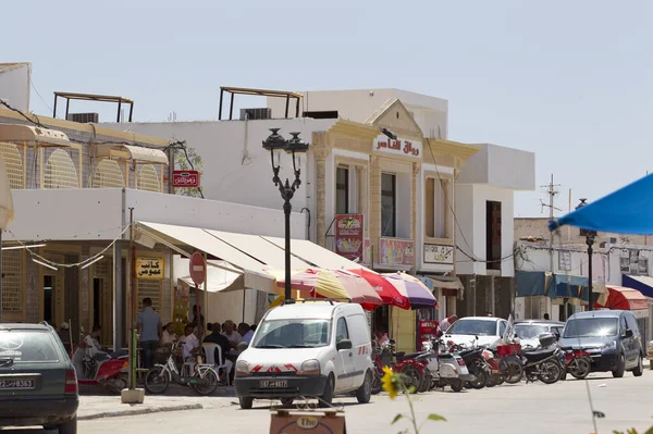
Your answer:
[[[612,372],[615,377],[632,371],[643,373],[644,348],[632,312],[595,310],[575,313],[567,320],[559,339],[563,349],[584,349],[592,359],[592,371]]]

